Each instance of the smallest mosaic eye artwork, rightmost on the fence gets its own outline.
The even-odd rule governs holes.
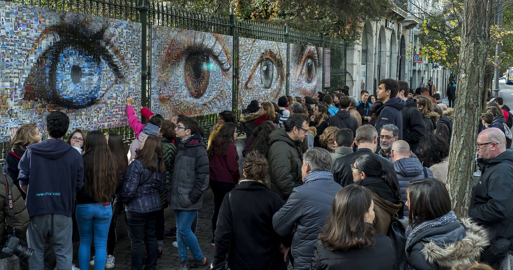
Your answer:
[[[290,88],[292,97],[313,97],[322,91],[322,48],[290,44]]]

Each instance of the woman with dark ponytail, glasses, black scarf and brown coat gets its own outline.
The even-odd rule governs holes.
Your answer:
[[[376,234],[387,235],[392,218],[402,217],[404,203],[401,200],[399,183],[392,172],[383,169],[377,155],[362,155],[354,158],[351,170],[353,181],[372,190],[374,213],[372,222]]]

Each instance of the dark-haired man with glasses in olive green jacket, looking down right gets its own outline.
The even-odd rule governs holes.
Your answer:
[[[305,140],[307,131],[308,118],[303,113],[294,113],[285,122],[285,129],[279,128],[269,135],[270,189],[284,201],[292,193],[292,189],[302,183],[301,143]]]

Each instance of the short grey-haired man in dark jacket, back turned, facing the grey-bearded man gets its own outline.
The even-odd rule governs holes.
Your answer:
[[[338,158],[331,168],[335,181],[343,187],[353,183],[351,165],[353,164],[354,158],[365,154],[377,155],[374,153],[378,144],[378,132],[376,131],[376,128],[371,125],[362,125],[359,127],[356,130],[354,144],[358,146],[358,150],[354,153],[349,153],[348,155]],[[382,159],[383,168],[390,171],[392,175],[396,175],[392,162],[379,155],[377,156]]]

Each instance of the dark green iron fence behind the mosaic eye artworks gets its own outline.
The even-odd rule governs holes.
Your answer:
[[[239,119],[239,116],[243,113],[243,110],[241,111],[241,109],[239,109],[241,106],[236,104],[239,91],[239,37],[287,44],[286,94],[289,93],[290,89],[288,59],[290,44],[331,48],[331,88],[334,89],[345,85],[346,43],[336,38],[324,37],[322,33],[309,33],[295,30],[289,28],[287,25],[276,26],[262,22],[242,21],[236,18],[236,15],[233,13],[206,14],[205,12],[197,10],[171,6],[167,2],[159,2],[156,0],[14,0],[13,2],[141,23],[141,103],[142,106],[149,108],[151,108],[150,86],[152,80],[150,68],[153,61],[151,50],[148,50],[148,48],[151,48],[151,26],[153,25],[232,36],[232,110],[236,119]],[[208,129],[216,124],[218,113],[200,115],[195,118],[201,126]],[[239,130],[242,131],[242,129]],[[104,133],[117,132],[122,134],[127,144],[135,138],[135,134],[130,127],[116,127],[102,131]],[[0,147],[2,153],[0,163],[2,163],[11,148],[8,142],[3,143]]]

